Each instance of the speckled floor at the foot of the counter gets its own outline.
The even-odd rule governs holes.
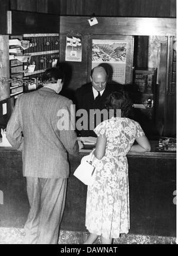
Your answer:
[[[24,229],[0,227],[0,244],[21,244],[23,236]],[[83,244],[87,236],[87,232],[61,230],[59,244]],[[100,244],[100,238],[97,239],[95,244]],[[119,239],[114,239],[113,244],[176,244],[176,238],[122,234]]]

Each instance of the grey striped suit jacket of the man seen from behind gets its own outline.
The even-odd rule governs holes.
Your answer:
[[[12,147],[23,152],[23,175],[68,178],[68,153],[77,154],[74,130],[59,131],[58,111],[70,114],[72,101],[43,87],[18,97],[7,125]],[[21,135],[23,132],[23,136]]]

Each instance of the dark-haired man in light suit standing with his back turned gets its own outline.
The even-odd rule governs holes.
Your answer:
[[[12,147],[23,153],[30,212],[24,244],[58,244],[59,225],[65,207],[68,154],[78,154],[73,130],[59,130],[59,111],[71,111],[72,101],[58,93],[63,74],[47,69],[44,86],[18,97],[7,125]]]

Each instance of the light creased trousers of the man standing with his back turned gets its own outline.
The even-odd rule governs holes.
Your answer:
[[[67,179],[26,178],[30,212],[23,244],[58,244]]]

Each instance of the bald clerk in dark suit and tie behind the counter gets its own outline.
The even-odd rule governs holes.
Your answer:
[[[105,103],[109,94],[122,88],[120,84],[107,84],[107,80],[108,74],[106,69],[101,66],[95,67],[91,70],[91,83],[85,84],[75,91],[77,109],[85,109],[88,113],[88,128],[78,131],[81,137],[96,137],[93,129],[96,127],[97,121],[95,116],[91,116],[90,110],[106,109]],[[103,121],[103,115],[101,115],[101,121]],[[91,122],[93,122],[93,125],[90,125]]]

